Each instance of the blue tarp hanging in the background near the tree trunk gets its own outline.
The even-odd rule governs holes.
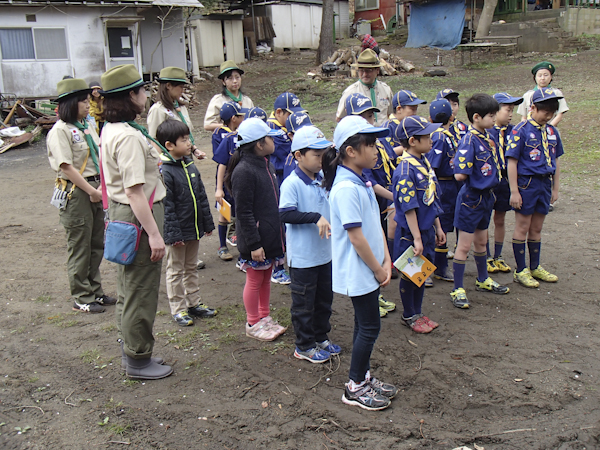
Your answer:
[[[435,47],[452,50],[465,27],[465,0],[411,3],[406,47]]]

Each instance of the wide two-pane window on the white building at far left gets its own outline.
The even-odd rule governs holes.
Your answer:
[[[0,28],[2,59],[68,59],[64,28]]]

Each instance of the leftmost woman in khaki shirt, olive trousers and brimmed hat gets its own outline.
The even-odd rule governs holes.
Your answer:
[[[56,187],[66,194],[60,223],[67,233],[67,272],[75,311],[101,313],[116,299],[102,290],[100,263],[104,252],[104,214],[98,191],[98,134],[85,117],[90,109],[84,80],[71,78],[57,85],[58,116],[46,139]],[[68,194],[67,194],[68,193]]]

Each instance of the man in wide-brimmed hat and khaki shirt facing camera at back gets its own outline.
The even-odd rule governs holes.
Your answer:
[[[336,120],[339,122],[346,116],[346,98],[351,94],[363,94],[371,99],[373,106],[381,112],[375,113],[375,125],[380,127],[393,114],[392,99],[394,93],[392,89],[383,81],[377,79],[381,63],[377,54],[370,48],[363,51],[356,61],[358,68],[358,81],[346,88],[340,98],[336,113]]]

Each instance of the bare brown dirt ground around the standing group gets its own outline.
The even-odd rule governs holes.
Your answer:
[[[436,57],[432,50],[389,49],[421,69]],[[389,409],[367,412],[340,401],[350,363],[349,299],[334,300],[330,337],[344,351],[330,364],[295,359],[291,329],[272,343],[250,340],[244,333],[244,274],[234,262],[219,260],[218,238],[207,237],[200,244],[207,265],[200,272],[202,292],[218,316],[178,327],[168,313],[163,277],[155,354],[175,372],[160,381],[131,381],[120,369],[113,308],[97,315],[71,310],[66,242],[49,204],[53,173],[42,140],[0,156],[0,448],[600,448],[599,53],[481,58],[467,68],[452,66],[451,53],[444,55],[446,78],[419,72],[384,81],[427,100],[445,87],[466,98],[476,91],[525,92],[535,61],[550,58],[559,67],[556,86],[571,112],[560,126],[563,183],[542,247],[543,264],[558,274],[557,284],[528,290],[512,283],[511,274],[499,274],[495,279],[510,285],[509,295],[477,293],[470,259],[472,307],[458,310],[449,301],[451,285],[436,281],[424,303],[441,324],[435,332],[412,333],[401,326],[401,311],[382,319],[372,371],[401,392]],[[289,83],[330,136],[335,99],[352,80],[327,82],[329,88],[304,81],[312,59],[312,53],[298,52],[253,61],[244,67],[244,87],[268,109]],[[207,81],[198,89],[193,117],[201,128],[218,85]],[[198,136],[210,155],[209,135]],[[198,167],[212,192],[214,163]],[[514,266],[513,225],[508,214],[504,255]],[[105,290],[115,294],[115,266],[103,263],[102,275]],[[383,293],[400,305],[397,281]],[[274,285],[271,304],[289,325],[289,289]]]

